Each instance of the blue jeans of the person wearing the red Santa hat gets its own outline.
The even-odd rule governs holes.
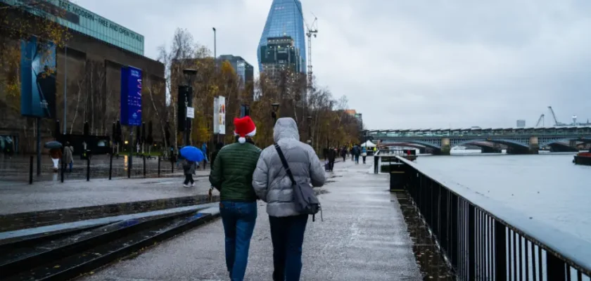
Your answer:
[[[257,202],[220,202],[220,215],[226,236],[226,266],[232,281],[246,273],[250,237],[257,221]]]

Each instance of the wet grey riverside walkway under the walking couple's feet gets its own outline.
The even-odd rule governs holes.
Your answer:
[[[368,157],[369,159],[370,157]],[[422,280],[388,175],[337,163],[320,200],[324,221],[308,221],[301,280]],[[265,203],[250,244],[245,280],[272,280],[272,243]],[[224,231],[217,220],[82,278],[95,280],[227,280]]]

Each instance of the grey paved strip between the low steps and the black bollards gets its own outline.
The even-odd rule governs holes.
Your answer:
[[[184,188],[182,174],[168,178],[122,178],[0,184],[0,215],[103,204],[207,195],[209,171],[199,170],[195,187]],[[213,195],[218,195],[214,190]]]

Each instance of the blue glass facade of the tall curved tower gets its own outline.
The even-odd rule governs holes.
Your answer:
[[[261,46],[267,46],[267,38],[286,36],[293,39],[295,51],[299,53],[299,72],[306,72],[304,18],[300,0],[273,0],[257,47],[259,70],[263,69]]]

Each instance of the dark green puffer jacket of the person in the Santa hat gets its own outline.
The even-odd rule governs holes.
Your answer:
[[[221,201],[254,202],[253,173],[260,156],[260,148],[252,143],[226,145],[215,157],[210,183],[220,190]]]

